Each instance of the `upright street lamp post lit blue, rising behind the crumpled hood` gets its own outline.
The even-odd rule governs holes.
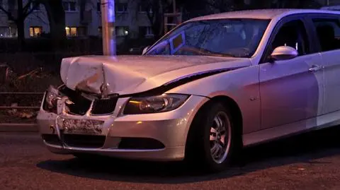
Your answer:
[[[101,0],[103,54],[115,55],[115,0]]]

